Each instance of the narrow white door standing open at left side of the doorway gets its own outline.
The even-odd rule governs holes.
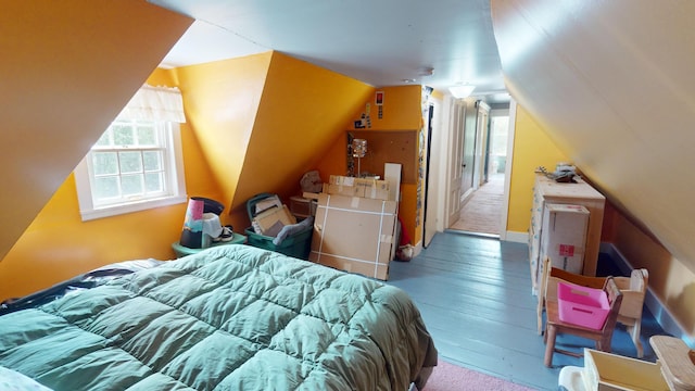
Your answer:
[[[460,214],[462,182],[464,179],[464,121],[466,105],[463,101],[453,100],[450,110],[450,148],[448,161],[448,212],[446,227],[454,224]]]

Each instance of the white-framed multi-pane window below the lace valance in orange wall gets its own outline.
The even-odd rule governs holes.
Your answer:
[[[126,112],[75,169],[83,220],[187,201],[179,123]]]

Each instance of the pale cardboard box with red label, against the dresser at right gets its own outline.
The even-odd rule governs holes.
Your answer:
[[[545,205],[543,229],[541,230],[541,251],[543,258],[551,258],[553,267],[582,274],[584,268],[584,249],[589,210],[582,205]],[[543,270],[539,270],[542,275]]]

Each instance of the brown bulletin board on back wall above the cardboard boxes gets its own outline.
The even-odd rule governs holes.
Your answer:
[[[417,182],[417,130],[350,130],[346,138],[348,144],[353,138],[367,140],[367,153],[359,161],[361,173],[383,178],[384,163],[400,163],[402,182]],[[348,160],[348,166],[352,163],[354,174],[357,175],[357,157],[352,157],[349,153]]]

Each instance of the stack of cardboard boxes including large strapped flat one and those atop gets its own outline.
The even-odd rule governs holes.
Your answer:
[[[389,164],[387,164],[389,165]],[[397,248],[401,167],[391,164],[386,180],[332,175],[318,194],[309,261],[387,280]],[[395,174],[397,173],[397,174]]]

